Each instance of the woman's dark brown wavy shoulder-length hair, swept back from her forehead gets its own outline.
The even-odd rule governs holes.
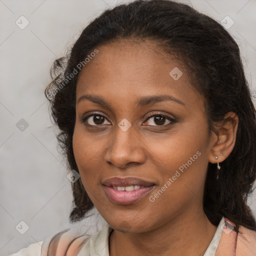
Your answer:
[[[235,224],[256,230],[247,198],[256,177],[256,121],[249,85],[245,78],[238,45],[214,19],[192,7],[171,0],[134,0],[104,10],[89,22],[66,56],[51,67],[52,81],[45,88],[51,115],[59,128],[58,144],[70,170],[77,171],[72,135],[75,124],[76,82],[86,58],[96,47],[132,39],[158,43],[166,55],[175,56],[189,71],[189,79],[204,96],[210,131],[214,123],[233,111],[239,118],[232,152],[221,162],[208,163],[204,185],[203,209],[211,223],[221,216]],[[81,179],[72,183],[71,222],[86,217],[93,203]]]

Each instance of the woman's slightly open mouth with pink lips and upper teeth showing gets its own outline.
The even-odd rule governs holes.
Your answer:
[[[115,204],[131,204],[146,196],[155,186],[154,182],[135,177],[114,177],[103,181],[108,199]]]

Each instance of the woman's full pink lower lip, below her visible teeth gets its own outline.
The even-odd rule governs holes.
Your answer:
[[[132,191],[118,191],[111,186],[104,186],[105,193],[110,201],[116,204],[130,204],[147,195],[154,185],[144,186]]]

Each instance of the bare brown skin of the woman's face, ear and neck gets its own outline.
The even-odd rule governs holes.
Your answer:
[[[164,61],[153,42],[119,41],[97,49],[77,81],[73,152],[86,192],[114,229],[109,255],[203,255],[216,230],[202,208],[207,164],[216,163],[217,156],[221,166],[232,151],[237,116],[229,112],[226,122],[216,126],[217,133],[209,135],[204,99],[190,84],[185,67],[175,59]],[[174,67],[183,73],[178,80],[169,75]],[[111,106],[78,102],[84,94],[100,96]],[[163,94],[184,104],[135,104],[140,97]],[[106,118],[80,121],[92,111]],[[176,122],[165,119],[159,125],[156,111]],[[118,126],[123,118],[131,124],[126,131]],[[151,202],[149,197],[197,151],[200,156]],[[115,176],[150,180],[155,187],[135,203],[115,204],[102,185]]]

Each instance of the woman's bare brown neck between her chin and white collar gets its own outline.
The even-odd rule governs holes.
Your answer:
[[[109,256],[196,255],[203,256],[216,226],[201,214],[178,216],[153,230],[124,233],[113,230],[109,236]]]

